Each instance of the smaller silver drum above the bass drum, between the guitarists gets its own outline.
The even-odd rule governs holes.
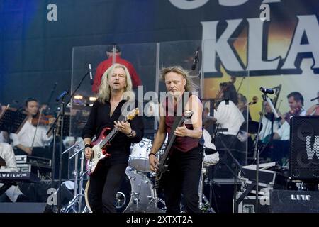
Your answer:
[[[133,145],[132,151],[130,153],[130,166],[142,172],[150,172],[151,170],[148,154],[150,154],[151,149],[152,140],[147,138],[143,138],[140,143]]]

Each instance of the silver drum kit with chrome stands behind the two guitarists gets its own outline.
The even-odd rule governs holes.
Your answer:
[[[129,165],[125,170],[125,178],[116,194],[115,206],[118,213],[163,213],[166,210],[164,199],[157,195],[157,191],[153,187],[155,184],[155,173],[151,172],[148,159],[148,154],[151,149],[152,140],[147,138],[143,138],[140,143],[135,143],[131,146]],[[164,150],[157,152],[158,159],[163,152]],[[82,185],[81,180],[83,180],[83,174],[85,174],[85,172],[83,172],[83,170],[79,172],[82,173],[80,177],[80,185]],[[211,206],[203,195],[202,185],[204,173],[205,171],[202,171],[201,184],[198,188],[198,195],[202,198],[199,204],[202,211],[204,210],[205,212],[211,213]],[[75,210],[81,213],[91,212],[88,191],[89,180],[86,182],[84,194],[82,190],[79,189],[79,194],[74,196],[74,199],[67,204],[66,208],[62,209],[62,212],[67,213]],[[83,204],[83,197],[85,204]],[[80,208],[81,204],[78,204],[79,200],[82,200],[83,209]],[[77,209],[70,209],[74,206],[76,206]]]

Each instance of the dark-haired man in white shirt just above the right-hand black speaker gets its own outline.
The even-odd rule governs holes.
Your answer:
[[[290,111],[281,115],[280,128],[274,133],[274,140],[290,139],[290,118],[293,116],[305,116],[303,109],[303,96],[299,92],[291,92],[288,96]]]

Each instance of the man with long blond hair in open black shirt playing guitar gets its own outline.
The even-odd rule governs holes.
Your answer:
[[[98,99],[94,102],[89,119],[83,129],[86,160],[90,160],[94,149],[91,148],[91,138],[104,138],[105,128],[117,133],[106,144],[105,158],[99,160],[94,172],[90,175],[89,203],[93,212],[115,213],[114,205],[116,193],[121,186],[128,166],[131,143],[138,143],[144,135],[144,126],[141,117],[132,121],[121,121],[124,107],[129,102],[135,103],[135,94],[132,92],[132,81],[128,69],[124,65],[114,64],[102,77]],[[105,148],[105,146],[103,147]]]

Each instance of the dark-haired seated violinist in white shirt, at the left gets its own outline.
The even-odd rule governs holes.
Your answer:
[[[52,140],[52,133],[47,135],[47,130],[55,121],[55,118],[45,118],[42,111],[39,111],[38,100],[34,98],[26,100],[24,109],[28,113],[26,123],[18,134],[11,133],[10,135],[15,154],[51,158],[50,149],[45,148],[50,145]]]

